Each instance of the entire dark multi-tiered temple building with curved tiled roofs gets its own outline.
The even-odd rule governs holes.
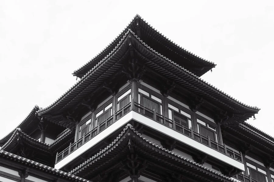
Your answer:
[[[259,109],[200,78],[214,67],[136,15],[0,140],[0,181],[274,182]]]

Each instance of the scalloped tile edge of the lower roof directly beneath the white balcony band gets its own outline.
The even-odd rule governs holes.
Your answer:
[[[83,167],[86,163],[89,163],[91,160],[93,160],[94,158],[98,157],[99,155],[101,155],[102,153],[104,153],[107,149],[109,149],[110,147],[112,147],[112,146],[121,138],[121,136],[125,133],[125,131],[126,131],[127,129],[131,129],[131,130],[132,130],[134,133],[136,133],[136,135],[138,135],[141,139],[145,140],[146,142],[148,142],[149,144],[153,145],[154,147],[157,147],[157,148],[159,148],[159,149],[161,149],[161,150],[163,150],[163,151],[165,151],[165,152],[168,152],[168,153],[170,153],[170,154],[172,154],[172,155],[174,155],[174,156],[176,156],[176,157],[178,157],[178,158],[180,158],[180,159],[183,159],[183,160],[185,160],[185,161],[188,161],[189,163],[195,164],[196,166],[199,166],[199,167],[201,167],[201,168],[203,168],[203,169],[206,169],[206,170],[208,170],[208,171],[210,171],[210,172],[212,172],[212,173],[214,173],[214,174],[217,174],[217,175],[219,175],[219,176],[221,176],[221,177],[224,177],[224,178],[226,178],[226,179],[228,179],[228,180],[231,180],[231,181],[235,182],[235,180],[234,180],[234,179],[231,179],[230,177],[227,177],[227,176],[225,176],[225,175],[223,175],[223,174],[220,174],[220,173],[218,173],[218,172],[216,172],[216,171],[214,171],[214,170],[211,170],[211,169],[209,169],[209,168],[207,168],[207,167],[204,167],[202,164],[193,162],[192,160],[189,160],[189,159],[187,159],[187,158],[185,158],[185,157],[182,157],[181,155],[178,155],[177,153],[174,153],[174,152],[172,152],[172,151],[170,151],[170,150],[168,150],[168,149],[166,149],[166,148],[161,147],[159,144],[156,144],[156,143],[154,143],[154,142],[152,142],[152,141],[150,141],[150,140],[147,140],[144,136],[142,136],[141,133],[139,133],[137,130],[135,130],[135,128],[134,128],[130,123],[128,123],[128,124],[125,126],[125,128],[123,128],[123,131],[118,135],[118,137],[116,137],[116,139],[115,139],[113,142],[111,142],[109,145],[107,145],[107,147],[105,147],[105,148],[104,148],[103,150],[101,150],[99,153],[95,154],[93,157],[90,157],[88,160],[86,160],[85,162],[83,162],[82,164],[80,164],[79,166],[77,166],[76,168],[74,168],[73,170],[71,170],[71,171],[69,172],[69,174],[72,174],[73,172],[75,172],[75,171],[78,170],[79,168]]]

